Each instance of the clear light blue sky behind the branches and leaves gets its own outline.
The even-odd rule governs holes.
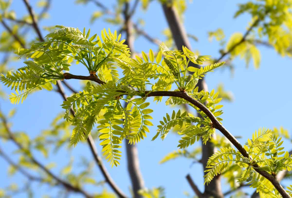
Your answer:
[[[36,1],[30,1],[36,12],[40,11],[40,8],[36,8]],[[111,7],[115,4],[114,0],[101,1],[107,7]],[[226,38],[229,38],[234,32],[244,33],[248,23],[251,21],[249,15],[242,15],[236,19],[233,18],[235,11],[237,10],[237,4],[246,1],[216,1],[210,0],[208,4],[206,1],[193,1],[188,2],[187,11],[185,13],[185,27],[189,34],[194,34],[198,37],[199,41],[191,41],[192,49],[200,51],[201,55],[211,55],[214,58],[219,57],[220,46],[216,41],[208,41],[208,31],[214,31],[217,28],[222,28],[225,32]],[[27,11],[22,1],[15,0],[11,6],[20,18],[22,15],[26,15]],[[79,29],[91,28],[91,34],[98,33],[105,27],[109,27],[111,30],[115,30],[119,27],[108,25],[103,20],[97,20],[94,24],[89,23],[91,14],[97,11],[98,8],[94,4],[76,5],[72,0],[52,1],[51,9],[49,10],[50,17],[44,19],[40,23],[40,27],[64,25],[70,27],[78,27]],[[143,11],[141,7],[138,7],[136,14],[134,15],[134,21],[142,18],[145,21],[144,29],[152,37],[160,40],[164,39],[162,31],[167,27],[165,17],[163,15],[161,6],[157,1],[153,1],[147,11]],[[2,28],[2,27],[1,27]],[[0,31],[3,29],[0,28]],[[48,32],[42,31],[43,36]],[[33,32],[29,35],[32,37]],[[157,49],[157,46],[149,43],[144,38],[139,37],[135,41],[135,51],[149,51]],[[226,90],[232,91],[234,95],[234,102],[227,103],[222,102],[224,105],[224,114],[221,116],[223,125],[234,136],[242,136],[239,141],[244,143],[247,138],[251,138],[252,133],[260,127],[280,127],[283,126],[291,132],[291,59],[287,57],[281,57],[273,49],[259,46],[261,51],[261,64],[258,70],[253,68],[251,64],[246,68],[244,60],[237,58],[233,64],[235,67],[234,77],[231,77],[228,69],[218,69],[213,73],[206,76],[206,81],[209,90],[216,88],[219,83],[223,83]],[[22,66],[22,61],[11,62],[11,68],[18,68]],[[73,65],[71,68],[73,74],[87,75],[86,69],[80,65]],[[80,88],[78,80],[67,81],[75,88]],[[4,88],[2,86],[2,88]],[[7,94],[10,94],[10,89],[4,88]],[[69,94],[69,91],[67,92]],[[150,102],[151,98],[148,99]],[[40,134],[42,130],[50,126],[51,120],[56,113],[62,111],[60,104],[62,104],[62,98],[56,92],[41,91],[29,95],[27,100],[22,105],[11,105],[8,100],[1,100],[1,110],[8,112],[12,108],[17,108],[17,114],[11,122],[13,122],[12,129],[14,131],[26,131],[29,136],[34,137]],[[203,173],[202,166],[200,164],[192,164],[192,161],[186,159],[177,159],[170,161],[166,164],[159,165],[159,161],[168,153],[173,150],[177,150],[176,145],[178,136],[173,134],[167,136],[164,141],[160,139],[151,142],[152,137],[156,133],[156,126],[159,120],[168,112],[172,110],[165,106],[163,103],[156,105],[152,104],[155,111],[152,113],[154,126],[150,128],[151,133],[147,134],[147,138],[138,143],[140,168],[143,178],[145,180],[145,186],[148,188],[163,186],[165,187],[166,197],[183,197],[183,192],[187,191],[193,194],[191,188],[187,184],[185,176],[190,173],[194,178],[195,183],[199,186],[199,189],[203,191]],[[220,132],[217,132],[220,133]],[[99,142],[96,140],[96,144]],[[199,146],[200,143],[196,143],[192,147]],[[286,150],[290,150],[289,143],[285,142]],[[12,153],[15,146],[11,143],[0,143],[1,149],[5,148],[7,153]],[[100,150],[100,146],[98,146]],[[124,149],[124,147],[123,147]],[[81,156],[86,156],[91,159],[87,145],[78,144],[77,147],[72,148],[69,152],[76,162]],[[44,159],[38,152],[35,153],[36,157],[44,164],[48,164],[51,161],[58,163],[58,166],[52,171],[56,174],[62,166],[66,165],[70,157],[68,152],[58,152],[53,154],[48,159]],[[17,158],[13,158],[17,161]],[[65,159],[65,160],[64,160]],[[8,165],[3,160],[0,163],[0,188],[4,188],[8,183],[19,183],[24,180],[20,174],[16,174],[13,177],[8,177],[6,170]],[[126,193],[129,193],[130,180],[126,172],[126,155],[123,150],[123,156],[119,167],[110,168],[109,164],[105,162],[112,178]],[[77,164],[77,163],[75,163]],[[78,171],[80,168],[74,165],[74,171]],[[95,168],[94,178],[97,180],[103,180],[99,170]],[[224,181],[222,181],[224,184]],[[37,190],[36,197],[46,194],[50,188],[46,185],[38,187],[34,184],[34,189]],[[57,187],[53,192],[57,193]],[[90,192],[102,188],[88,187]],[[109,189],[109,188],[108,188]],[[228,190],[223,186],[223,191]],[[249,190],[252,192],[252,190]],[[26,197],[24,194],[20,194],[19,197]],[[58,196],[56,196],[58,197]],[[79,195],[72,194],[71,197],[79,197]]]

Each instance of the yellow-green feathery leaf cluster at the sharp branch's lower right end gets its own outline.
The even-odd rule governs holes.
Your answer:
[[[231,167],[241,168],[244,170],[241,175],[238,175],[239,182],[248,182],[264,197],[281,197],[279,192],[274,190],[272,183],[256,173],[255,169],[267,171],[272,175],[276,175],[281,170],[291,171],[292,155],[289,155],[287,151],[282,151],[284,149],[281,147],[282,143],[281,138],[278,138],[278,135],[272,135],[271,130],[260,128],[244,145],[249,157],[243,157],[232,147],[221,148],[208,160],[208,169],[204,176],[205,183],[209,183],[218,174],[227,173],[226,170]],[[260,168],[253,167],[254,164],[258,164]]]

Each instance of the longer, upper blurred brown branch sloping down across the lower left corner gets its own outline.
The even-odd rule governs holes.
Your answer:
[[[13,141],[13,143],[15,143],[15,145],[17,145],[17,147],[20,150],[26,150],[25,147],[23,147],[14,137],[14,134],[10,131],[10,128],[8,127],[8,123],[5,117],[1,117],[2,123],[4,125],[4,128],[6,129],[6,132],[8,133],[8,137],[10,140]],[[91,195],[89,195],[87,192],[85,192],[84,190],[82,190],[79,187],[73,186],[70,183],[68,183],[65,180],[62,180],[61,178],[59,178],[58,176],[56,176],[55,174],[53,174],[49,169],[47,169],[43,164],[41,164],[36,158],[34,158],[34,156],[32,154],[29,154],[28,157],[30,158],[30,160],[32,161],[32,163],[34,163],[36,166],[38,166],[41,170],[43,170],[45,173],[47,173],[49,176],[51,176],[53,179],[55,179],[58,183],[60,183],[61,185],[63,185],[66,189],[74,191],[74,192],[79,192],[81,194],[83,194],[86,198],[93,198]]]

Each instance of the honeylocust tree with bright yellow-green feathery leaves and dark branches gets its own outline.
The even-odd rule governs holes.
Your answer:
[[[279,183],[288,175],[288,171],[291,171],[291,152],[281,147],[281,136],[289,138],[287,131],[282,128],[259,128],[241,145],[232,136],[232,131],[227,131],[223,126],[224,122],[220,118],[223,113],[220,101],[222,98],[230,98],[230,95],[223,91],[222,87],[218,87],[218,91],[208,91],[204,82],[204,76],[217,67],[232,67],[231,62],[237,56],[244,57],[247,64],[252,59],[254,66],[258,68],[260,52],[257,45],[273,47],[281,55],[291,55],[291,1],[266,0],[239,5],[235,17],[242,13],[252,16],[252,22],[244,34],[233,34],[225,45],[222,29],[208,32],[210,39],[215,37],[223,47],[219,58],[199,55],[191,50],[187,37],[197,38],[187,35],[183,27],[182,14],[187,5],[185,1],[159,1],[169,25],[169,29],[164,32],[167,37],[165,43],[153,39],[147,32],[139,29],[141,21],[133,23],[132,17],[140,4],[139,1],[132,4],[128,1],[117,1],[111,11],[99,1],[78,0],[79,4],[94,3],[100,8],[101,11],[93,13],[91,22],[104,17],[107,22],[119,26],[118,32],[103,29],[98,36],[95,32],[91,33],[90,29],[86,31],[84,28],[82,31],[57,25],[48,28],[51,33],[46,37],[42,37],[38,26],[43,12],[39,16],[34,15],[29,2],[23,0],[29,17],[18,20],[15,13],[9,11],[9,2],[0,2],[3,12],[1,22],[6,29],[2,34],[1,45],[6,51],[16,51],[19,58],[26,58],[18,70],[6,71],[4,67],[4,74],[1,75],[3,84],[13,90],[9,95],[11,103],[24,102],[34,91],[51,91],[57,87],[64,100],[61,106],[65,109],[65,113],[54,119],[51,129],[32,140],[25,133],[13,133],[8,118],[1,114],[2,138],[13,141],[21,153],[20,162],[17,164],[0,150],[1,156],[11,164],[11,173],[18,170],[30,181],[61,186],[63,190],[60,194],[64,193],[65,196],[77,192],[85,197],[127,197],[109,176],[94,142],[96,140],[102,146],[102,153],[108,163],[118,166],[120,159],[125,157],[122,142],[126,140],[133,197],[164,197],[161,187],[152,190],[144,188],[137,166],[136,148],[133,145],[146,136],[152,136],[152,140],[158,137],[164,140],[173,130],[180,136],[178,144],[174,145],[179,147],[179,150],[169,153],[161,162],[177,157],[197,159],[202,150],[202,159],[198,161],[201,161],[205,170],[205,192],[201,193],[190,175],[187,176],[198,197],[223,197],[243,186],[255,188],[253,197],[291,197],[292,186],[285,188]],[[44,6],[45,12],[50,3],[47,1],[39,4]],[[147,9],[149,4],[150,1],[141,3],[143,9]],[[18,25],[11,29],[6,20],[12,20]],[[27,28],[26,26],[35,31],[38,41],[29,44],[29,41],[18,33],[19,29]],[[122,37],[119,32],[126,37]],[[158,50],[144,49],[139,54],[135,53],[134,33],[159,45]],[[263,38],[268,41],[263,41]],[[228,59],[223,62],[227,56]],[[78,64],[89,76],[69,72],[71,64]],[[69,86],[66,82],[70,79],[84,82],[83,90],[75,91]],[[67,97],[61,83],[74,94]],[[164,97],[169,112],[161,115],[157,131],[153,133],[153,110],[148,106],[150,103],[163,102]],[[172,110],[171,105],[179,109]],[[95,130],[97,133],[93,132]],[[221,133],[221,136],[218,133]],[[94,194],[84,190],[85,184],[103,183],[97,183],[91,177],[93,165],[87,160],[84,160],[85,170],[80,174],[70,173],[70,161],[61,171],[65,177],[60,177],[36,159],[32,152],[35,148],[46,156],[47,146],[52,142],[55,150],[58,150],[64,143],[69,143],[72,148],[84,140],[87,141],[105,182],[115,194],[107,191]],[[196,141],[202,142],[201,148],[193,147]],[[40,177],[32,175],[23,167],[40,171]],[[221,192],[220,176],[225,177],[231,187],[231,190],[224,194]],[[11,185],[7,191],[17,194],[22,189]],[[32,193],[30,182],[24,186],[23,191]],[[4,191],[1,191],[0,195],[9,196]],[[241,196],[240,193],[237,196]]]

